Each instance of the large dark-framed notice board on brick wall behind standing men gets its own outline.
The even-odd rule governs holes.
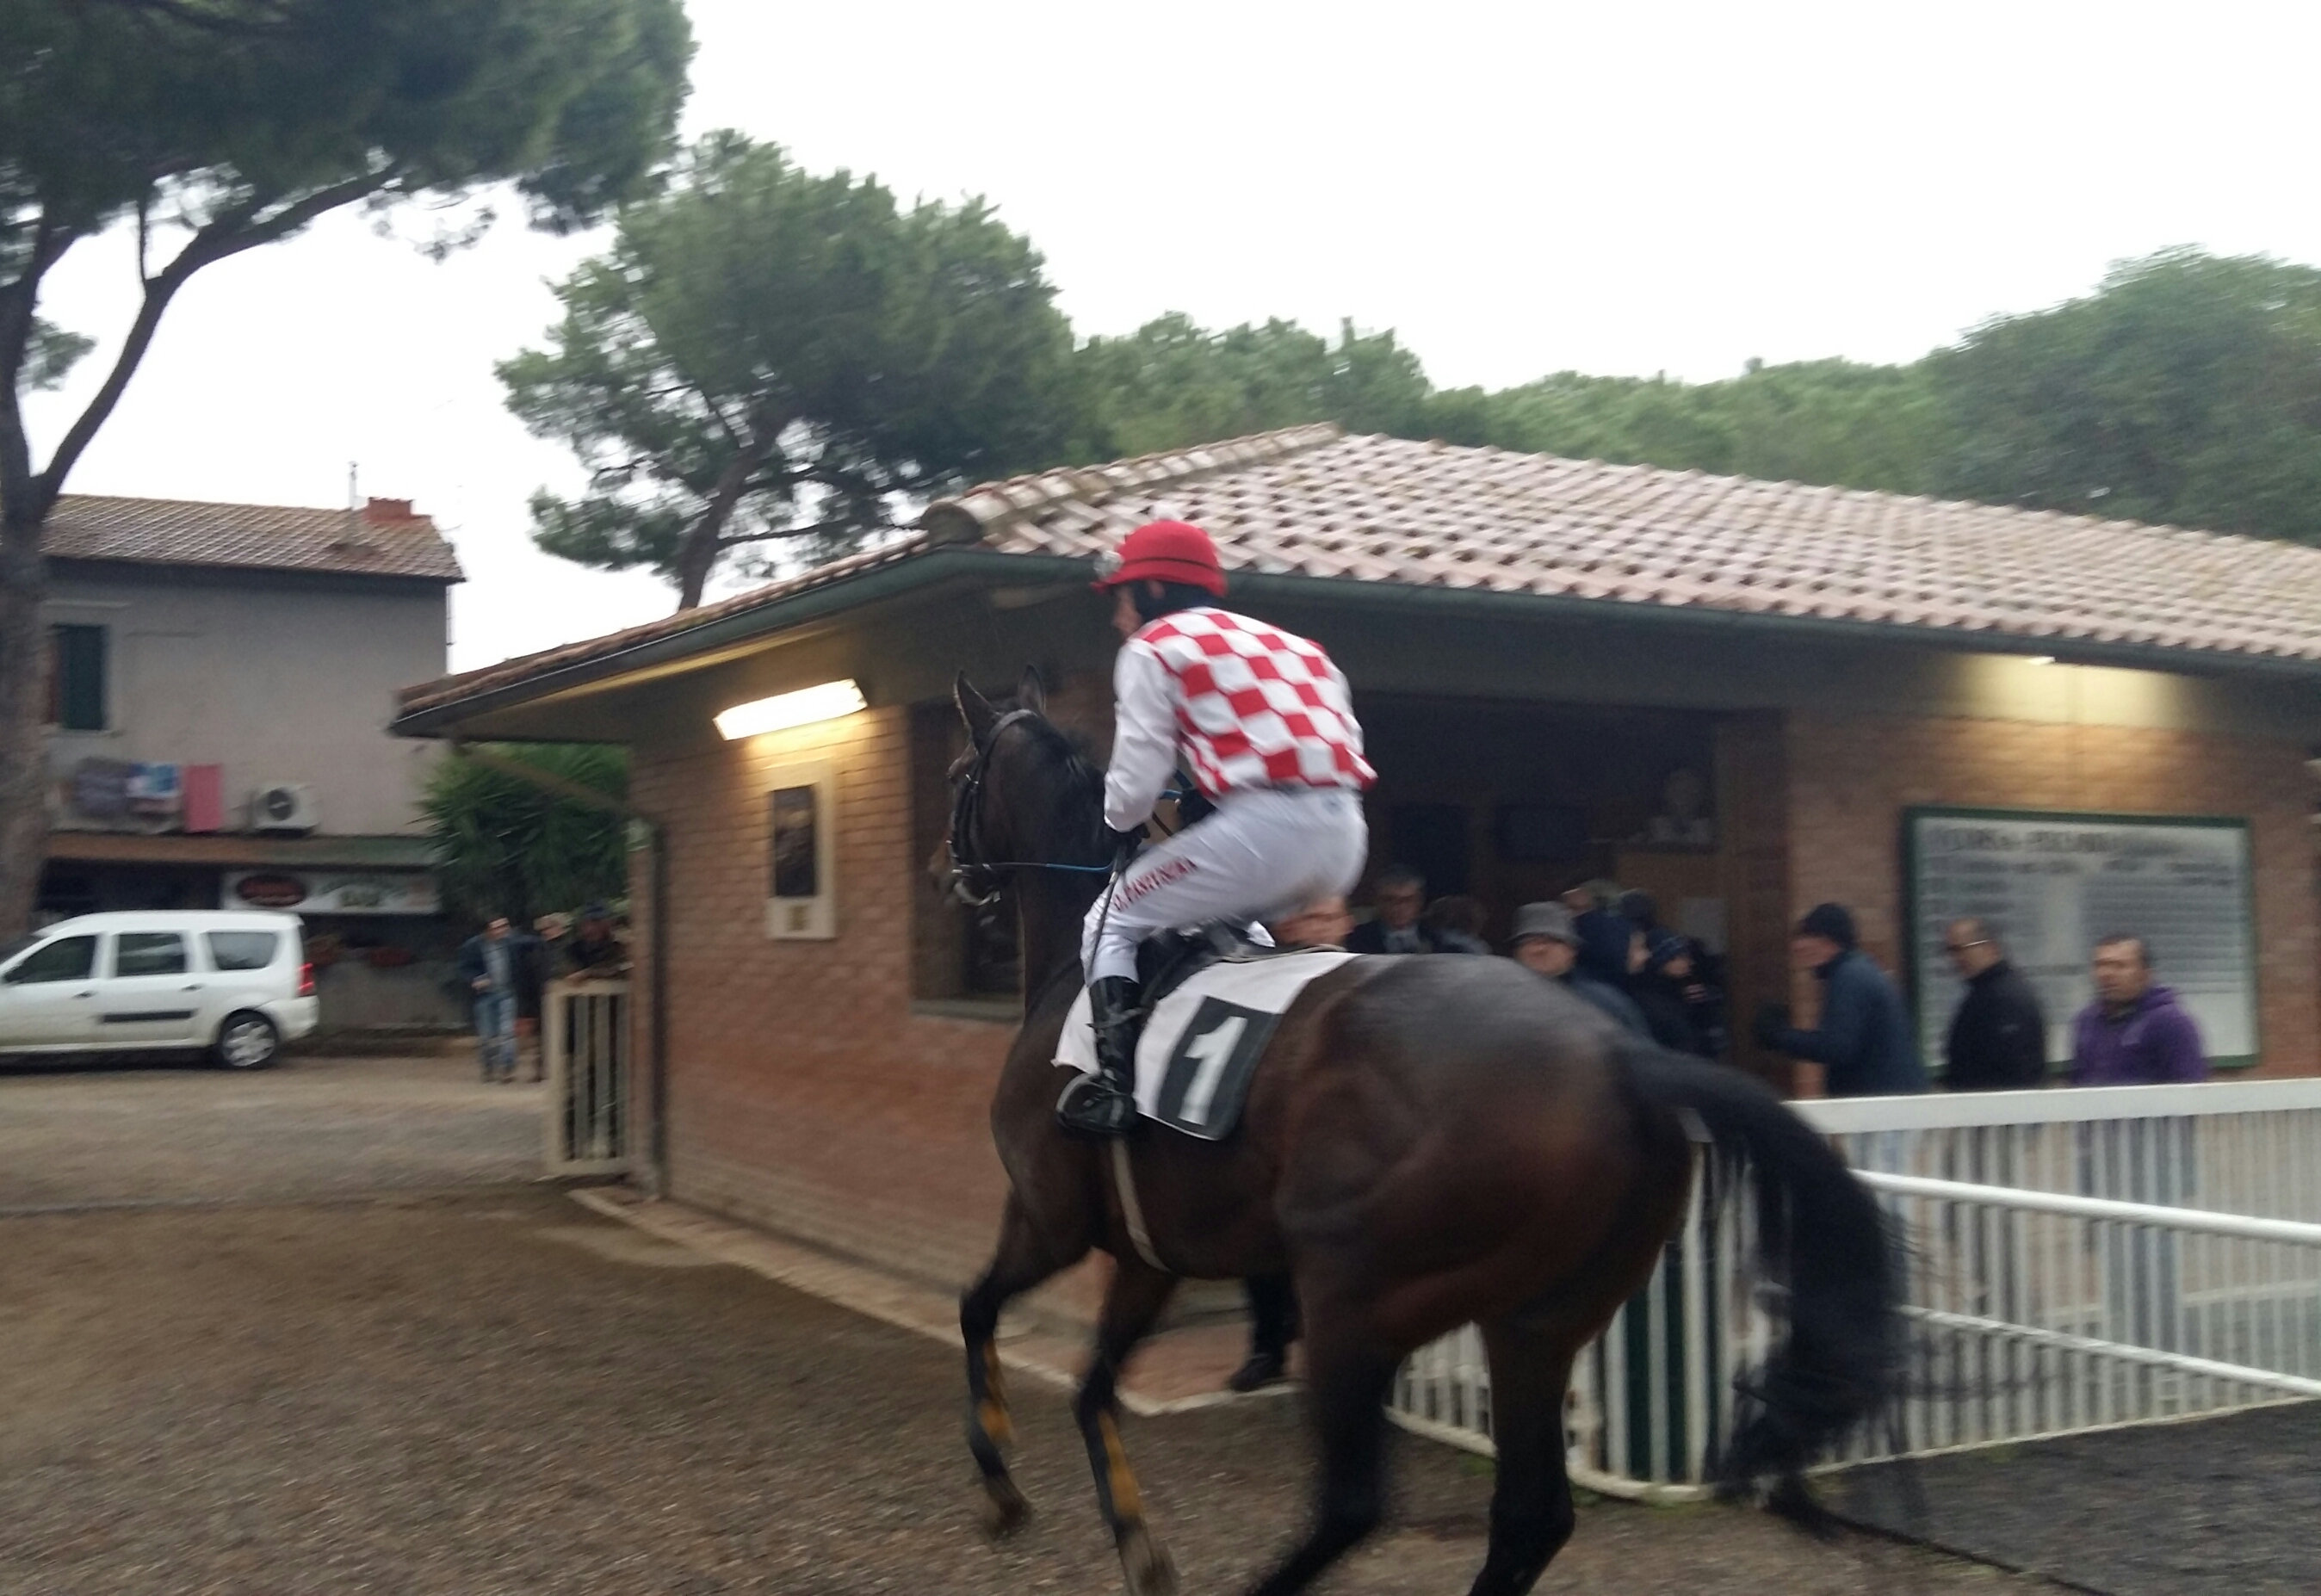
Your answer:
[[[2210,1065],[2256,1062],[2256,900],[2249,824],[2179,814],[1906,810],[1903,891],[1919,1046],[1943,1060],[1961,984],[1943,951],[1977,919],[2038,991],[2047,1060],[2070,1058],[2070,1021],[2096,991],[2101,937],[2142,937],[2154,981],[2200,1025]]]

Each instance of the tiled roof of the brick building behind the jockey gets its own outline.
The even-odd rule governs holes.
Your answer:
[[[413,687],[404,708],[515,687],[931,547],[1093,559],[1154,515],[1207,527],[1232,571],[1864,622],[1968,647],[1980,636],[2321,663],[2314,547],[1318,425],[989,483],[875,554]]]

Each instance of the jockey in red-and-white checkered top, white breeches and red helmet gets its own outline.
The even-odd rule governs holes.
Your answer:
[[[1112,668],[1105,824],[1135,847],[1177,763],[1216,805],[1144,849],[1089,909],[1079,963],[1096,1021],[1096,1074],[1056,1102],[1065,1130],[1119,1137],[1137,1120],[1135,1049],[1144,1018],[1137,944],[1209,921],[1279,919],[1346,893],[1369,830],[1346,677],[1316,643],[1235,615],[1209,534],[1149,522],[1121,541],[1112,592],[1123,645]]]

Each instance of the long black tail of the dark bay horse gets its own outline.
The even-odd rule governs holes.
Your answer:
[[[1755,1183],[1759,1262],[1787,1287],[1787,1336],[1743,1376],[1720,1478],[1745,1489],[1778,1475],[1776,1506],[1801,1508],[1803,1466],[1894,1394],[1901,1253],[1868,1188],[1752,1076],[1653,1046],[1625,1062],[1643,1102],[1697,1120]]]

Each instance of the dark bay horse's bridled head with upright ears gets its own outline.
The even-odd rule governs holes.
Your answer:
[[[949,891],[986,905],[1014,870],[1102,868],[1102,775],[1047,719],[1047,691],[1031,668],[1010,708],[968,682],[952,684],[968,747],[952,761]]]

